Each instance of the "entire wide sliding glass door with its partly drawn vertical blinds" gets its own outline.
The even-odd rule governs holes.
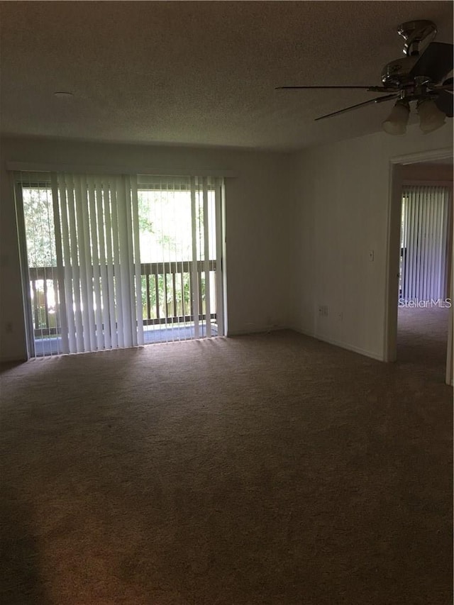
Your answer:
[[[220,178],[16,174],[33,355],[223,334]]]

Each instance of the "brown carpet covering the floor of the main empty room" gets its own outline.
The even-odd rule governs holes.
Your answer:
[[[400,353],[282,331],[7,369],[1,603],[450,604],[452,389]]]

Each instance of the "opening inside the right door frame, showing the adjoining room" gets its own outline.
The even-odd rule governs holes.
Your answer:
[[[451,194],[448,184],[436,179],[443,167],[424,169],[433,182],[413,178],[402,184],[397,360],[423,362],[444,377],[451,306]],[[414,170],[411,167],[410,176]]]

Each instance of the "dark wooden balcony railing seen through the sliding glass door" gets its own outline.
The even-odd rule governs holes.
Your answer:
[[[194,321],[194,270],[198,279],[199,321],[206,313],[205,262],[148,262],[140,265],[143,326]],[[60,306],[57,267],[31,267],[33,331],[35,338],[59,336]],[[98,273],[99,274],[99,273]],[[211,320],[216,321],[216,260],[209,261]]]

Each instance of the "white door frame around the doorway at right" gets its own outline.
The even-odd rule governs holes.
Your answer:
[[[399,155],[389,160],[389,196],[387,231],[387,279],[384,313],[384,361],[397,358],[397,309],[399,301],[399,248],[402,208],[402,166],[420,162],[436,162],[453,157],[452,148]],[[453,314],[453,307],[450,309]],[[452,318],[450,326],[453,325]],[[452,329],[452,328],[451,328]],[[449,340],[449,338],[448,338]],[[448,360],[447,360],[448,361]]]

